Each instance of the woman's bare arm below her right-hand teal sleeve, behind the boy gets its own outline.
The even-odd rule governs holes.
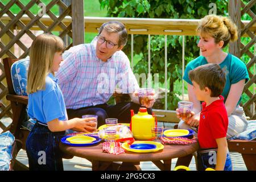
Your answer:
[[[228,116],[231,115],[234,109],[237,106],[237,102],[240,100],[240,97],[245,86],[245,79],[238,81],[236,84],[230,86],[228,97],[226,98],[225,106]]]

